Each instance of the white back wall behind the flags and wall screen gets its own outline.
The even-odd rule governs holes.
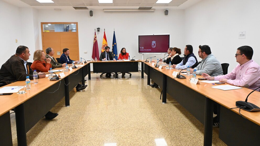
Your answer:
[[[103,10],[93,10],[93,12],[93,17],[90,17],[89,10],[39,10],[40,44],[41,22],[78,22],[79,55],[86,60],[91,59],[94,29],[97,27],[100,27],[100,32],[96,32],[99,53],[101,53],[104,28],[108,46],[112,45],[115,29],[117,52],[119,53],[121,48],[125,47],[130,57],[136,56],[136,59],[142,59],[142,55],[138,54],[140,34],[170,33],[170,46],[184,48],[183,10],[169,10],[167,16],[164,15],[164,10],[155,10],[155,13],[104,13]],[[88,53],[84,54],[85,51]],[[149,56],[153,55],[145,55],[146,58]],[[156,56],[163,57],[163,55]]]

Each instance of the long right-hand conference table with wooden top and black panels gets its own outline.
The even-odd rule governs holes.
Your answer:
[[[244,101],[251,89],[220,90],[212,88],[211,83],[200,82],[193,84],[189,77],[178,79],[172,75],[176,69],[155,68],[152,63],[144,63],[144,72],[147,74],[147,85],[150,79],[158,84],[163,91],[162,102],[166,103],[166,93],[180,103],[198,121],[204,124],[204,145],[212,145],[213,102],[220,107],[219,138],[227,145],[259,145],[260,111],[248,112],[235,108],[236,101]],[[181,73],[182,74],[182,73]],[[197,78],[202,76],[197,75]],[[229,85],[229,84],[225,84]],[[248,102],[260,106],[260,92],[253,92]]]

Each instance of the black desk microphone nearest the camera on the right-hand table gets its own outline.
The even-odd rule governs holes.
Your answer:
[[[260,87],[256,88],[254,91],[256,91],[257,89],[259,89]],[[250,92],[248,94],[248,96],[253,93],[254,91]],[[245,101],[237,101],[236,102],[236,107],[239,107],[243,110],[246,110],[246,111],[260,111],[260,108],[250,102],[247,102],[247,98],[248,96],[246,97],[246,100]]]

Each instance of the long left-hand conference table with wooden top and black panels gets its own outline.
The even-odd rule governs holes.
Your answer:
[[[56,68],[59,70],[62,68]],[[59,74],[61,72],[55,72]],[[65,96],[65,106],[69,104],[69,91],[79,82],[84,83],[88,74],[88,63],[77,69],[64,72],[58,81],[50,81],[48,77],[38,79],[38,83],[31,82],[31,89],[24,94],[4,95],[0,97],[0,145],[13,145],[9,111],[15,108],[15,120],[18,145],[27,145],[26,133],[50,109]],[[6,86],[25,85],[25,81],[17,81]],[[5,87],[5,86],[3,86]]]

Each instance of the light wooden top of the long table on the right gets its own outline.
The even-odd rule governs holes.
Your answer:
[[[152,63],[145,63],[151,67],[155,67],[152,66]],[[186,79],[178,79],[175,78],[175,75],[172,75],[172,73],[174,71],[177,71],[177,69],[165,69],[166,66],[163,66],[162,69],[159,68],[154,68],[154,70],[160,71],[163,74],[174,78],[174,80],[176,80],[177,82],[180,82],[181,84],[193,89],[194,91],[212,99],[213,101],[221,104],[222,106],[230,109],[230,108],[235,108],[236,107],[236,101],[245,101],[247,95],[252,92],[252,89],[248,89],[248,88],[244,88],[242,87],[242,89],[235,89],[235,90],[221,90],[221,89],[215,89],[212,88],[212,86],[221,86],[221,85],[212,85],[211,83],[205,83],[205,82],[200,82],[201,84],[193,84],[190,83],[189,77],[187,77]],[[181,73],[182,74],[182,73]],[[183,75],[183,74],[182,74]],[[186,75],[184,75],[186,76]],[[197,75],[196,77],[198,78],[202,78],[202,76]],[[205,81],[205,80],[204,80]],[[222,84],[223,85],[223,84]],[[228,83],[225,83],[225,85],[230,85]],[[174,87],[173,87],[174,89]],[[185,94],[185,93],[179,93],[179,94]],[[257,106],[260,107],[260,92],[253,92],[252,94],[250,94],[250,96],[248,97],[248,102],[253,103]],[[235,113],[239,114],[239,109],[231,109],[232,111],[234,111]],[[248,112],[245,110],[240,110],[240,113],[248,120],[256,123],[257,125],[260,125],[260,111],[256,111],[256,112]]]

